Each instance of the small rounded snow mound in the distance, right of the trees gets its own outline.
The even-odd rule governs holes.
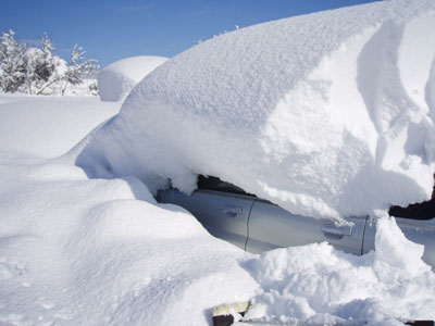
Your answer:
[[[140,55],[116,61],[97,76],[101,101],[122,101],[145,76],[167,61],[167,58]]]

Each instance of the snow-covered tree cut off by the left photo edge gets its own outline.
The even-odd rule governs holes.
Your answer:
[[[10,29],[0,37],[0,87],[4,92],[17,91],[26,79],[26,46],[14,36],[15,32]]]

